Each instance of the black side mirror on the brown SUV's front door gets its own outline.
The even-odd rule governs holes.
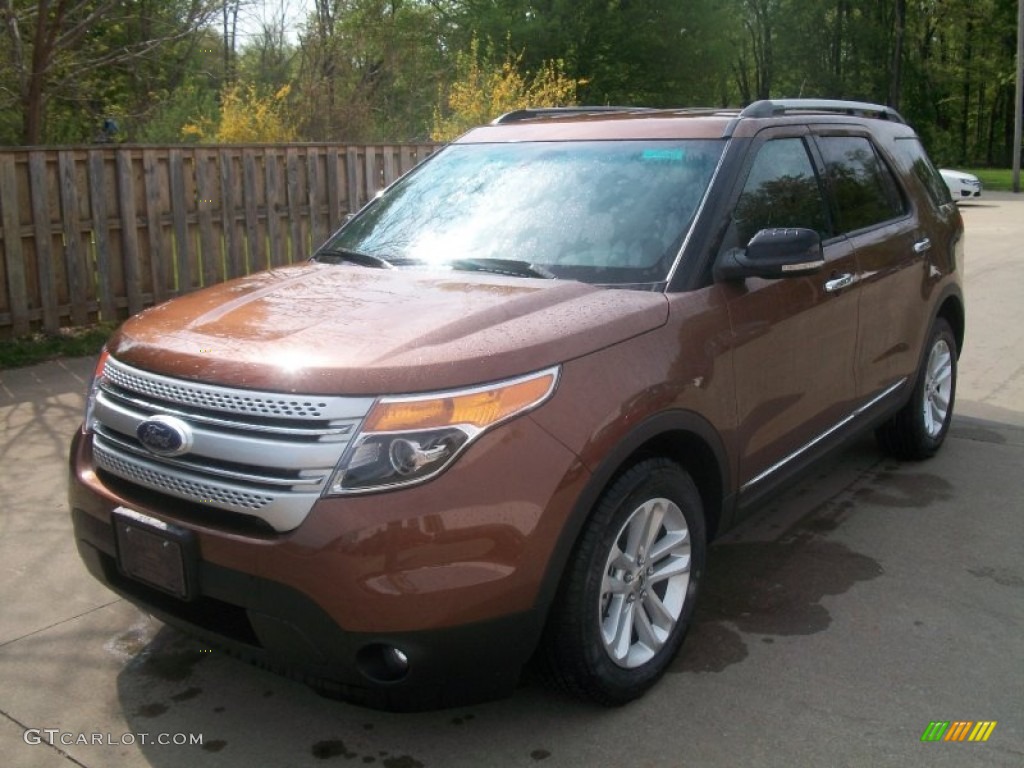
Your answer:
[[[824,264],[821,238],[813,229],[762,229],[745,249],[722,254],[715,265],[715,280],[795,278],[813,274]]]

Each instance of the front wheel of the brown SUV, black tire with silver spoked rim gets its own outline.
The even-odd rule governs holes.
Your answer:
[[[686,635],[705,539],[700,495],[678,465],[647,459],[621,475],[595,506],[552,606],[548,677],[606,707],[643,695]]]

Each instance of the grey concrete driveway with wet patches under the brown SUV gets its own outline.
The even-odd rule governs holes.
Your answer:
[[[620,710],[526,679],[392,715],[206,651],[78,561],[65,457],[90,361],[0,372],[0,764],[1024,765],[1024,198],[963,212],[968,344],[942,453],[899,464],[865,439],[716,543],[671,674]],[[997,725],[923,742],[932,721]]]

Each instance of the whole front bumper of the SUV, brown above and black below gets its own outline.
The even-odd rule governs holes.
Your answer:
[[[322,501],[287,535],[215,528],[180,501],[134,494],[97,474],[79,433],[70,478],[79,553],[96,579],[161,621],[336,697],[412,711],[508,695],[543,630],[541,584],[585,479],[536,424],[516,424],[518,434],[485,436],[422,487]],[[531,458],[520,455],[522,480],[511,481],[495,464],[506,466],[521,440]],[[489,488],[489,503],[470,504],[474,487]],[[194,599],[119,568],[118,506],[194,532]],[[392,648],[408,659],[400,674],[385,660]]]

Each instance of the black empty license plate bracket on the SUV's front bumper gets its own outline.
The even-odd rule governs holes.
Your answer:
[[[118,507],[114,532],[124,575],[179,600],[195,597],[199,547],[193,531]]]

